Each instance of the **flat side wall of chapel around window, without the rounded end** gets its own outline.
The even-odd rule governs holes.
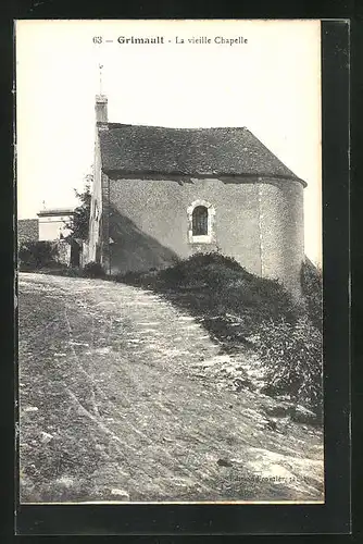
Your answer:
[[[199,200],[215,211],[210,244],[189,239],[188,209]],[[196,251],[218,250],[261,274],[259,193],[252,181],[110,180],[108,211],[111,271],[161,268]]]

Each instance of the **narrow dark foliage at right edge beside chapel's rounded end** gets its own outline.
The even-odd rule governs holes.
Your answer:
[[[312,323],[323,329],[323,274],[309,259],[301,267],[301,288]]]

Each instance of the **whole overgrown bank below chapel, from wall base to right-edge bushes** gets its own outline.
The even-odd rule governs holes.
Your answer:
[[[278,282],[249,273],[231,258],[197,254],[116,281],[152,289],[187,310],[226,354],[249,353],[261,366],[264,393],[302,404],[320,421],[322,333],[316,282],[315,298],[310,295],[313,277],[310,263],[302,269],[304,296],[296,300]]]

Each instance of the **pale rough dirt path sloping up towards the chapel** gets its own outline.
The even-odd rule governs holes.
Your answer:
[[[218,358],[152,293],[21,274],[22,500],[322,500],[322,433],[218,387]]]

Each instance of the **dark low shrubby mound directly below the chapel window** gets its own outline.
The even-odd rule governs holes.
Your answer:
[[[116,281],[163,293],[197,317],[210,319],[220,339],[234,334],[227,314],[242,321],[238,332],[249,335],[261,321],[284,316],[295,322],[300,312],[278,282],[253,275],[235,259],[216,252],[196,254],[159,272],[129,272]]]

